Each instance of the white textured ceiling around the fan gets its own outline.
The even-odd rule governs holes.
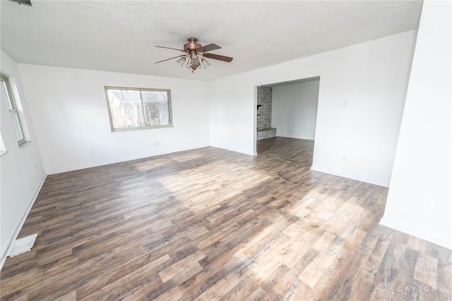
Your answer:
[[[19,63],[211,80],[417,28],[422,1],[1,0],[1,49]],[[218,44],[206,70],[175,61]]]

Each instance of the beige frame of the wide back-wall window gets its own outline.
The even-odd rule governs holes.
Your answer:
[[[142,91],[166,92],[167,100],[168,100],[169,124],[167,124],[167,125],[133,126],[133,127],[129,127],[129,128],[114,128],[113,118],[112,118],[112,109],[110,107],[110,102],[109,102],[109,98],[108,98],[108,90],[139,91],[140,94]],[[109,117],[109,121],[110,121],[110,129],[112,130],[112,132],[124,132],[124,131],[129,131],[129,130],[150,130],[150,129],[155,129],[155,128],[173,128],[174,127],[174,118],[172,115],[172,104],[171,104],[171,90],[169,90],[169,89],[105,86],[105,99],[107,100],[108,117]],[[144,112],[142,97],[141,97],[141,108],[142,108],[142,111]]]

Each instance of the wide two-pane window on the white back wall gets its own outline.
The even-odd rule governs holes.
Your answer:
[[[137,130],[172,126],[169,90],[105,87],[114,130]]]

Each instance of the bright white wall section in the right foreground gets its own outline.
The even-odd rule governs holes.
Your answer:
[[[452,249],[451,2],[424,1],[383,225]]]

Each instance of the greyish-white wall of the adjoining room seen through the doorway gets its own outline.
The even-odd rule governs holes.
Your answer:
[[[319,80],[273,87],[271,127],[278,137],[314,140]]]

